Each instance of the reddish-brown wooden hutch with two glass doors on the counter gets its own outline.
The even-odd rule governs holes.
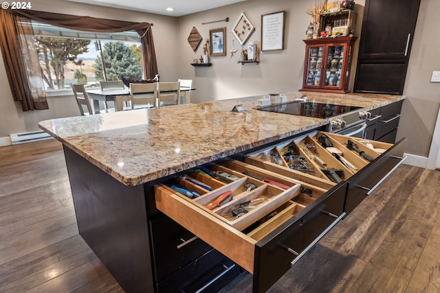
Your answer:
[[[347,93],[355,36],[317,38],[306,43],[303,89]]]

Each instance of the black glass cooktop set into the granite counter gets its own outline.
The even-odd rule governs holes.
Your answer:
[[[359,110],[360,108],[362,107],[299,101],[256,107],[257,110],[316,118],[333,117],[336,115],[349,113],[354,110]]]

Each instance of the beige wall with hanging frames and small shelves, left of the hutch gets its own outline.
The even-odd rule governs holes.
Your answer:
[[[184,78],[192,78],[194,82],[197,91],[191,94],[192,101],[202,102],[301,89],[305,59],[303,39],[306,37],[305,31],[310,21],[306,10],[314,3],[314,0],[253,0],[180,17],[178,23],[181,47],[180,73]],[[237,64],[242,47],[231,30],[240,13],[244,12],[256,28],[246,43],[253,42],[261,47],[261,15],[283,10],[286,12],[285,49],[261,52],[259,65]],[[201,24],[226,17],[229,17],[230,21]],[[203,36],[203,41],[196,52],[192,51],[187,40],[193,26]],[[209,30],[219,27],[226,27],[227,56],[210,58],[211,67],[192,67],[190,65],[192,60],[203,54],[202,47],[204,40],[209,38]],[[235,49],[239,51],[231,58],[229,50],[232,49],[232,40]]]

